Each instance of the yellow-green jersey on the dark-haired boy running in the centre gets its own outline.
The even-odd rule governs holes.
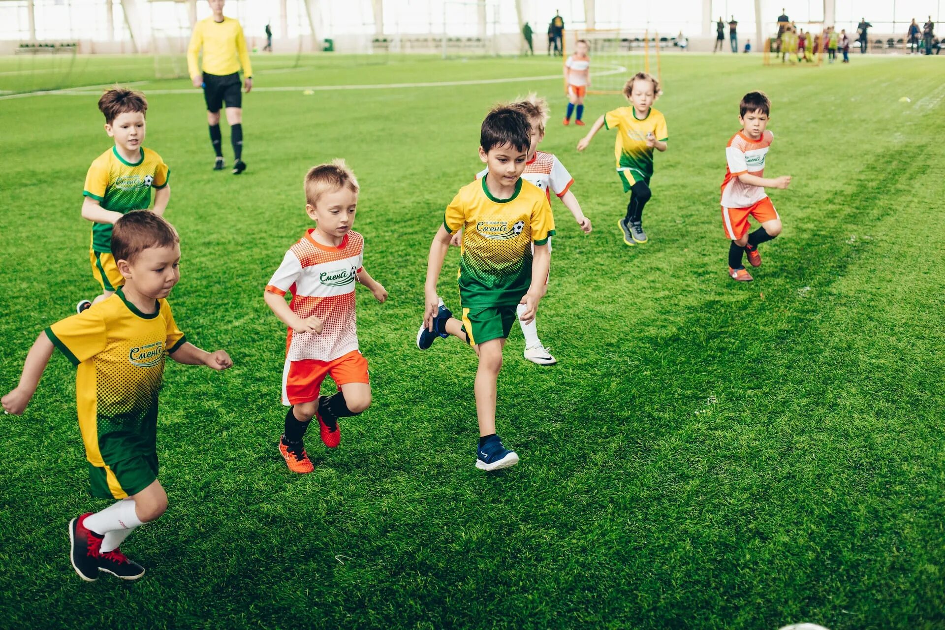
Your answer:
[[[443,226],[463,229],[459,250],[459,297],[465,308],[517,304],[531,284],[532,242],[555,233],[548,197],[519,179],[507,199],[491,196],[486,178],[456,193]]]

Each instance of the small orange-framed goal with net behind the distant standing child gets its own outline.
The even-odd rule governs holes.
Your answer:
[[[577,29],[568,33],[564,60],[576,43],[588,43],[591,58],[591,88],[588,94],[621,94],[627,78],[646,72],[662,83],[660,36],[651,30],[622,28]]]

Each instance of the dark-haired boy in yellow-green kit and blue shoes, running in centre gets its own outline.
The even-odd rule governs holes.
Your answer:
[[[521,321],[535,319],[548,278],[548,238],[555,233],[548,198],[522,179],[530,144],[524,113],[507,107],[490,111],[479,135],[479,159],[486,162],[489,173],[460,188],[446,207],[426,269],[426,307],[417,347],[428,349],[438,336],[452,334],[479,355],[474,386],[479,421],[475,466],[482,470],[507,468],[519,461],[495,434],[496,383],[516,307],[525,305]],[[450,238],[460,229],[462,320],[437,295]]]

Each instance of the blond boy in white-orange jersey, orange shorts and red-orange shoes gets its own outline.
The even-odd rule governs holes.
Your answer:
[[[357,416],[370,406],[368,360],[361,356],[354,320],[354,283],[369,288],[379,302],[384,286],[364,270],[364,238],[352,230],[360,189],[344,160],[321,164],[305,176],[305,212],[316,222],[283,257],[266,285],[266,305],[288,326],[283,368],[285,430],[279,451],[293,472],[312,472],[302,441],[312,417],[325,446],[341,441],[338,418]],[[285,294],[292,301],[285,303]],[[319,396],[331,376],[333,396]]]

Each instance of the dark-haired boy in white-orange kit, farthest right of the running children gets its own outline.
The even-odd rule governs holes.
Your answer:
[[[774,134],[766,130],[771,101],[764,92],[749,92],[739,105],[738,122],[742,130],[725,147],[726,170],[722,181],[722,223],[729,247],[729,276],[736,281],[753,279],[742,264],[747,252],[751,266],[762,264],[758,246],[781,233],[781,217],[774,209],[765,188],[787,188],[790,175],[765,179],[765,156]],[[748,233],[748,216],[762,225]]]

